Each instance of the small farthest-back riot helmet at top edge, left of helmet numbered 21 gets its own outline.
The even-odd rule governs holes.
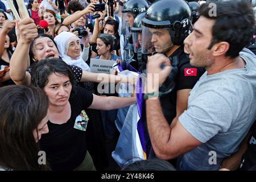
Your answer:
[[[131,13],[135,18],[139,13],[148,9],[148,3],[146,0],[128,0],[123,5],[122,13]]]

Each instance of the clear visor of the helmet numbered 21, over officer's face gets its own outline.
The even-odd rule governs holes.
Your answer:
[[[142,24],[142,53],[166,53],[174,46],[170,28],[149,28]]]

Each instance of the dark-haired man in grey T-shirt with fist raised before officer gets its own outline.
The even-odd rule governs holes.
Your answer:
[[[201,16],[184,40],[191,65],[207,72],[191,90],[187,110],[171,126],[156,96],[171,71],[170,61],[156,54],[147,64],[144,98],[149,98],[146,112],[152,147],[159,158],[179,156],[180,170],[219,169],[222,159],[238,150],[256,118],[256,56],[242,49],[254,33],[253,10],[245,1],[216,2],[217,12],[211,16],[210,7],[200,6]],[[184,73],[191,76],[192,71]],[[159,83],[150,74],[158,74]]]

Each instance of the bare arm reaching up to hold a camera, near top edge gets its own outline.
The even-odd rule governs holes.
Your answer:
[[[76,20],[78,20],[82,15],[88,14],[88,13],[93,13],[94,11],[94,5],[92,3],[90,3],[86,9],[82,10],[82,11],[76,11],[76,13],[68,16],[67,18],[64,19],[63,24],[69,26],[69,24],[72,24],[73,22],[75,22]]]

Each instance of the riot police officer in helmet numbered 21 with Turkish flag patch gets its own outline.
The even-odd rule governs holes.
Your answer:
[[[152,3],[142,19],[142,53],[163,53],[173,67],[159,92],[162,110],[171,123],[187,109],[188,95],[204,73],[192,67],[184,53],[184,39],[191,30],[191,9],[183,0],[162,0]]]

